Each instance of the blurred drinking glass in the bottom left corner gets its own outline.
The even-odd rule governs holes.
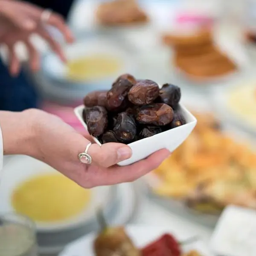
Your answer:
[[[0,256],[38,256],[35,224],[29,218],[0,215]]]

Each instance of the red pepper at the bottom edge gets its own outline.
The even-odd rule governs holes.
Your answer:
[[[164,234],[142,250],[143,256],[180,256],[180,243],[170,234]]]

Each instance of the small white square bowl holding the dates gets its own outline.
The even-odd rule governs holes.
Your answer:
[[[83,120],[83,110],[84,105],[80,105],[75,108],[74,112],[81,122],[84,125],[84,128],[87,129],[87,125]],[[126,166],[132,163],[135,163],[139,160],[148,157],[149,155],[153,154],[157,150],[166,148],[170,152],[174,151],[184,140],[189,136],[189,134],[195,128],[197,120],[195,116],[192,115],[183,105],[179,106],[180,112],[183,114],[184,118],[186,119],[186,124],[181,125],[179,127],[170,129],[168,131],[161,132],[154,136],[137,140],[133,143],[128,144],[128,146],[132,150],[131,158],[119,162],[119,166]],[[99,140],[93,137],[93,140],[98,144],[102,145]]]

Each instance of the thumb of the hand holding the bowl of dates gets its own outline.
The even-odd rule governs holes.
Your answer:
[[[92,157],[93,164],[109,167],[130,158],[132,151],[129,146],[122,143],[106,143],[102,146],[92,144],[88,154]]]

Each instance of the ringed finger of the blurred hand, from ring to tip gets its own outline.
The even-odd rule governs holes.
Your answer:
[[[73,33],[66,25],[63,17],[61,17],[60,15],[57,15],[57,14],[52,14],[49,17],[48,24],[57,28],[61,32],[61,34],[64,36],[65,40],[68,43],[73,43],[73,41],[74,41]]]

